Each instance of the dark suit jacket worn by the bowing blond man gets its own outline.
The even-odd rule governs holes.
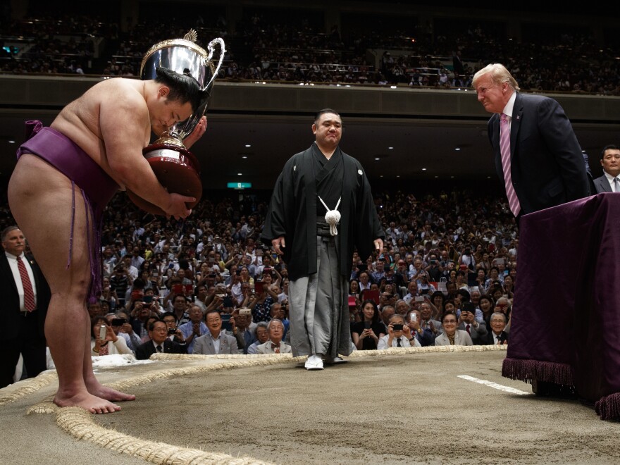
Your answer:
[[[500,116],[488,123],[497,175],[504,182]],[[557,101],[517,92],[510,129],[512,184],[521,214],[588,197],[583,154],[569,118]]]

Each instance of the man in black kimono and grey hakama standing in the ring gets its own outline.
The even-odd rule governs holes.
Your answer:
[[[371,187],[361,164],[340,150],[340,115],[317,113],[316,141],[292,156],[275,182],[262,239],[288,268],[290,343],[306,368],[344,360],[352,349],[348,278],[355,249],[366,259],[383,249]]]

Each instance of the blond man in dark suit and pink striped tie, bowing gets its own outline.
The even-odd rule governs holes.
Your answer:
[[[557,101],[519,93],[499,63],[479,70],[473,87],[485,110],[495,113],[488,135],[514,216],[590,195],[581,147]]]

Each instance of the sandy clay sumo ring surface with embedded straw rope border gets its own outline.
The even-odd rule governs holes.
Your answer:
[[[394,350],[323,371],[285,356],[99,364],[137,400],[98,416],[54,409],[46,372],[34,392],[0,390],[0,463],[620,463],[619,422],[502,378],[505,351]]]

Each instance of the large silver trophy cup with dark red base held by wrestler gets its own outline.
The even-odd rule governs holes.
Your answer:
[[[156,68],[160,66],[177,73],[189,73],[202,88],[202,99],[197,110],[185,121],[180,121],[164,131],[158,140],[142,150],[149,161],[157,179],[168,192],[196,198],[196,202],[188,204],[192,208],[202,197],[202,181],[200,180],[200,164],[182,140],[192,133],[204,113],[206,113],[213,81],[222,66],[225,55],[223,39],[213,39],[207,46],[208,52],[195,42],[197,33],[190,30],[182,39],[168,39],[151,46],[142,58],[140,79],[150,80],[156,77]],[[212,58],[216,44],[220,46],[217,66]],[[149,213],[163,215],[164,212],[154,204],[138,197],[128,190],[132,202]]]

